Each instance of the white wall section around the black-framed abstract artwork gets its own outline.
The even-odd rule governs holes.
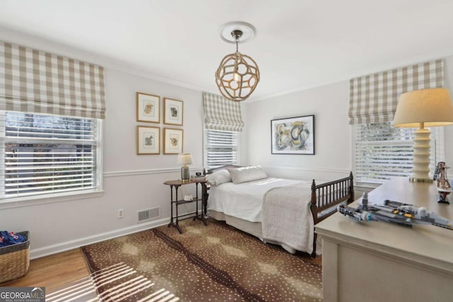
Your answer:
[[[248,164],[275,176],[331,180],[351,169],[349,81],[247,103]],[[270,153],[270,120],[314,115],[315,155]]]

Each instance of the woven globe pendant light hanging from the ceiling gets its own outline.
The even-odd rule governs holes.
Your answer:
[[[246,100],[255,90],[260,81],[260,69],[255,60],[238,50],[242,30],[232,30],[231,37],[236,42],[236,52],[227,54],[220,62],[215,73],[217,87],[225,98],[230,100]]]

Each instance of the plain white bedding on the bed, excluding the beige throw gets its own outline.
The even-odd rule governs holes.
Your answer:
[[[237,185],[234,185],[233,182],[226,182],[222,185],[212,186],[210,187],[210,197],[207,200],[207,209],[247,221],[262,222],[261,209],[264,194],[274,187],[297,185],[301,182],[301,180],[265,178]]]

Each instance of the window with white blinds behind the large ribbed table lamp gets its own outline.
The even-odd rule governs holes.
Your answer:
[[[431,128],[430,170],[435,167],[435,128]],[[392,177],[411,176],[415,128],[391,122],[355,125],[355,181],[380,184]]]

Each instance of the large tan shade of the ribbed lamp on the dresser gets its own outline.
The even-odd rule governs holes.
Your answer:
[[[453,105],[445,88],[430,88],[401,94],[394,127],[447,126],[453,124]]]

